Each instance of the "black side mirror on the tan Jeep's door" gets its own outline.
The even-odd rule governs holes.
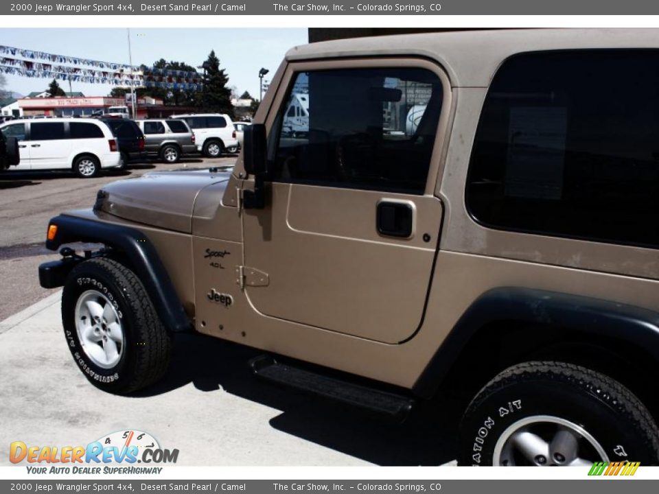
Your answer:
[[[244,149],[242,162],[245,172],[254,176],[254,190],[243,191],[245,209],[264,209],[266,207],[266,189],[264,177],[268,173],[268,142],[266,126],[252,124],[244,130]]]

